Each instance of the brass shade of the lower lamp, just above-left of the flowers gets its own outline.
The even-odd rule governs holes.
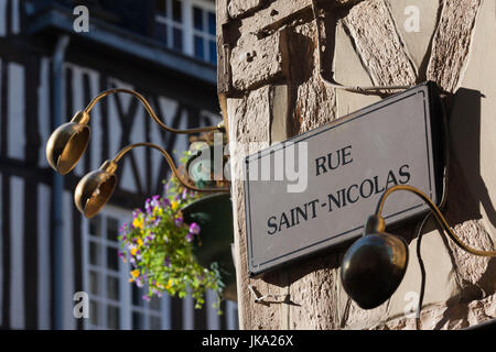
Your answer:
[[[114,162],[107,161],[77,184],[74,201],[86,218],[96,216],[112,196],[117,185],[117,176],[114,174],[116,168]]]

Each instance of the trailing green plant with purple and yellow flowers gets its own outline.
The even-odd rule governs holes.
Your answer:
[[[190,152],[181,160],[184,165]],[[217,263],[200,265],[194,256],[194,241],[201,245],[201,228],[186,224],[181,209],[201,195],[185,189],[175,177],[164,186],[165,195],[147,199],[144,210],[132,212],[132,221],[123,223],[119,240],[119,256],[132,266],[129,280],[148,288],[143,299],[161,297],[163,293],[180,298],[191,294],[195,308],[205,302],[205,292],[217,293],[215,307],[219,310],[224,284]]]

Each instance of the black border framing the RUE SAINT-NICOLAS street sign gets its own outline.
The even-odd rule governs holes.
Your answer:
[[[419,91],[412,92],[412,90],[417,90],[417,89],[419,89],[421,87],[427,87],[428,88],[428,95],[427,96],[425,96],[425,92],[423,90],[419,90]],[[346,117],[343,117],[343,118],[341,118],[338,120],[335,120],[334,122],[331,122],[326,127],[319,128],[321,131],[319,131],[319,129],[316,129],[317,131],[312,130],[312,131],[304,132],[302,134],[292,136],[292,138],[285,140],[284,142],[278,143],[278,144],[272,145],[272,146],[270,146],[270,147],[268,147],[266,150],[259,151],[259,152],[257,152],[257,153],[255,153],[252,155],[246,156],[246,158],[245,158],[246,167],[244,167],[244,177],[245,177],[244,185],[245,185],[245,215],[246,215],[246,231],[247,231],[247,256],[248,256],[248,271],[249,271],[249,275],[250,276],[256,276],[256,275],[262,274],[262,273],[271,271],[271,270],[273,270],[276,267],[279,267],[279,266],[282,266],[282,265],[287,265],[287,264],[289,264],[289,263],[291,263],[293,261],[301,260],[301,258],[308,257],[308,256],[310,256],[312,254],[315,254],[317,252],[322,252],[322,251],[328,250],[333,245],[337,246],[338,244],[341,244],[341,242],[331,244],[328,246],[321,248],[321,249],[315,250],[315,251],[310,252],[310,253],[305,253],[305,254],[303,254],[301,256],[292,257],[288,262],[278,263],[278,264],[276,264],[273,266],[268,266],[268,267],[265,267],[265,268],[262,268],[260,271],[254,272],[255,266],[266,265],[266,264],[271,263],[273,261],[278,261],[278,260],[280,260],[280,258],[284,257],[284,256],[292,255],[294,253],[308,250],[309,248],[322,244],[322,243],[331,241],[331,240],[335,240],[338,237],[343,237],[343,235],[346,235],[346,234],[348,234],[351,232],[354,232],[354,231],[357,231],[359,229],[363,229],[364,226],[354,228],[352,230],[347,230],[347,231],[345,231],[343,233],[338,233],[338,234],[336,234],[336,235],[334,235],[332,238],[327,238],[325,240],[321,240],[319,242],[309,244],[309,245],[306,245],[304,248],[300,248],[298,250],[288,252],[285,254],[279,255],[277,257],[273,257],[270,261],[267,261],[267,262],[259,263],[259,264],[255,265],[254,264],[254,257],[252,257],[252,253],[254,253],[252,251],[254,250],[252,250],[251,211],[250,211],[250,205],[251,204],[250,204],[250,191],[249,191],[249,180],[248,180],[249,162],[254,161],[254,160],[259,160],[259,158],[261,158],[263,156],[267,156],[267,155],[270,155],[270,154],[272,154],[272,153],[274,153],[277,151],[284,150],[287,147],[288,142],[291,142],[293,140],[298,140],[298,141],[294,142],[294,144],[296,144],[296,143],[302,142],[304,140],[308,140],[310,138],[316,136],[316,135],[319,135],[321,133],[327,132],[327,131],[330,131],[330,130],[332,130],[334,128],[337,128],[337,127],[339,127],[342,124],[345,124],[347,122],[351,122],[351,121],[354,121],[354,120],[356,120],[358,118],[362,118],[362,117],[364,117],[366,114],[369,114],[369,113],[371,113],[374,111],[377,111],[377,110],[380,110],[382,108],[386,108],[386,107],[390,106],[391,103],[396,103],[397,101],[401,101],[401,100],[410,98],[410,97],[412,97],[414,95],[422,94],[424,96],[424,98],[423,98],[423,109],[424,109],[424,127],[425,127],[425,143],[427,143],[428,168],[429,168],[429,197],[432,199],[432,177],[431,177],[432,169],[431,169],[431,166],[434,169],[434,174],[435,174],[434,177],[435,177],[435,182],[436,182],[435,184],[438,184],[438,180],[439,180],[438,173],[439,173],[439,169],[440,169],[440,168],[435,167],[436,162],[439,162],[438,153],[440,152],[439,151],[440,150],[440,145],[438,143],[435,143],[436,141],[434,141],[434,139],[433,139],[434,132],[438,132],[438,130],[439,130],[439,127],[434,123],[434,119],[432,117],[432,114],[434,113],[433,110],[435,110],[435,107],[432,107],[432,105],[433,105],[432,90],[434,89],[434,87],[435,87],[435,84],[430,82],[430,81],[421,84],[421,85],[418,85],[418,86],[412,87],[411,89],[409,89],[407,91],[397,94],[397,95],[391,96],[389,98],[386,98],[386,99],[384,99],[381,101],[378,101],[378,102],[376,102],[376,103],[374,103],[371,106],[368,106],[368,107],[366,107],[366,108],[364,108],[362,110],[358,110],[357,112],[351,113],[351,114],[348,114]],[[406,95],[407,92],[410,92],[410,94]],[[406,96],[400,98],[400,99],[398,99],[399,96],[402,96],[402,95],[406,95]],[[385,105],[384,103],[385,100],[391,100],[391,102]],[[380,107],[376,107],[376,109],[368,110],[367,112],[363,112],[362,113],[363,110],[368,109],[368,108],[374,107],[374,106],[378,106],[378,105],[380,105]],[[429,116],[430,121],[427,121],[428,120],[428,113],[427,113],[428,106],[430,108],[429,109],[429,111],[430,111],[430,116]],[[429,135],[428,123],[431,127],[431,135]],[[429,141],[431,141],[432,145],[429,144]],[[294,145],[294,144],[292,144],[292,145]],[[431,147],[432,147],[432,151],[431,151]],[[431,152],[433,154],[432,161],[431,161],[431,156],[430,156]],[[433,165],[431,165],[431,163]],[[440,199],[439,199],[440,197],[439,197],[439,187],[438,187],[438,185],[434,188],[434,190],[435,190],[435,196],[436,196],[435,201],[439,202],[440,201]],[[419,204],[417,206],[410,207],[409,209],[406,209],[406,210],[392,213],[392,215],[386,217],[385,219],[389,219],[389,218],[396,217],[398,215],[401,215],[403,212],[408,212],[408,211],[411,211],[413,209],[418,209],[418,208],[421,208],[421,207],[427,207],[427,206],[423,202],[421,202],[421,204]],[[401,221],[401,220],[398,220],[398,221]],[[395,223],[398,222],[398,221],[395,221]]]

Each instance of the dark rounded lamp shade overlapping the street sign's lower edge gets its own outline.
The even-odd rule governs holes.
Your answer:
[[[373,309],[396,292],[408,265],[403,239],[386,232],[362,237],[343,258],[341,279],[349,297],[363,309]]]

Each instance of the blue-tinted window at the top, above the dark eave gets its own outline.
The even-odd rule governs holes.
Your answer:
[[[217,63],[215,4],[207,0],[155,0],[155,37],[168,47]]]

